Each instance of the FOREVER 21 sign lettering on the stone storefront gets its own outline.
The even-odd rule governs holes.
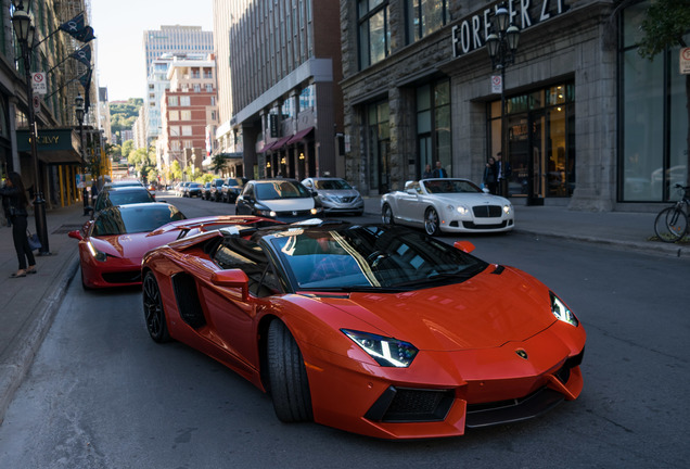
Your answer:
[[[500,3],[468,16],[452,27],[452,55],[458,58],[486,43],[491,29],[491,10]],[[510,21],[521,30],[567,11],[565,0],[508,0]]]

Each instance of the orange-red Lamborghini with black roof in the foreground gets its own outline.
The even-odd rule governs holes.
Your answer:
[[[229,227],[146,253],[144,319],[154,341],[270,393],[284,422],[438,438],[575,400],[583,326],[545,284],[472,249],[392,226]]]

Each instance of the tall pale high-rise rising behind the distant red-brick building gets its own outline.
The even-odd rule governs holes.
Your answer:
[[[143,36],[146,61],[146,141],[161,135],[161,99],[168,88],[168,64],[175,56],[204,60],[214,52],[213,31],[201,26],[161,26],[159,30],[145,30]]]

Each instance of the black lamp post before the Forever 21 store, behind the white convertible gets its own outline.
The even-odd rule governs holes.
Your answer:
[[[500,5],[491,16],[491,34],[486,38],[486,48],[491,58],[491,66],[501,72],[501,167],[510,168],[508,156],[508,131],[506,129],[506,68],[515,61],[520,29],[510,21],[510,13]],[[508,197],[508,178],[502,175],[499,190]]]

